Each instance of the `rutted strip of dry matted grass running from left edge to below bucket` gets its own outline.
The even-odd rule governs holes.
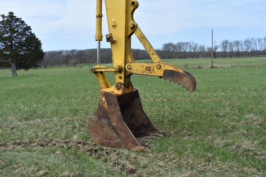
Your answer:
[[[102,159],[108,162],[112,168],[120,169],[128,175],[132,175],[137,171],[137,168],[130,162],[139,161],[140,164],[146,164],[146,161],[140,156],[133,153],[128,153],[126,149],[113,149],[104,146],[96,145],[90,140],[60,140],[60,139],[44,139],[26,141],[4,141],[0,143],[0,150],[15,150],[20,148],[35,148],[35,147],[56,147],[56,148],[75,148],[89,153],[95,159]],[[59,153],[59,152],[57,152]],[[124,155],[127,154],[127,158]],[[2,161],[0,161],[1,165]],[[42,172],[40,172],[42,173]]]

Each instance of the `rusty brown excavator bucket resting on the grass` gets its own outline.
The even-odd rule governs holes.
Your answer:
[[[96,144],[148,152],[150,139],[169,135],[158,130],[143,111],[136,89],[121,95],[105,92],[88,131]]]

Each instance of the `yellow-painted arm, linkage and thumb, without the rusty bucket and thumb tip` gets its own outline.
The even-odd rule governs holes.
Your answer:
[[[94,73],[101,85],[101,93],[113,92],[114,94],[123,94],[130,92],[133,86],[130,82],[131,74],[144,74],[163,76],[165,69],[183,72],[178,66],[162,62],[156,51],[153,49],[147,38],[144,36],[138,24],[133,19],[134,11],[138,8],[139,3],[136,0],[105,0],[106,16],[108,22],[109,33],[112,33],[113,41],[110,42],[114,67],[94,67]],[[102,16],[102,1],[97,0],[97,15]],[[101,29],[102,20],[96,18],[96,34],[95,40],[102,40]],[[151,56],[154,63],[136,63],[131,53],[131,36],[135,34],[143,47]],[[157,65],[160,64],[160,68]],[[122,71],[117,72],[116,66],[122,66]],[[128,69],[131,65],[131,69]],[[114,71],[115,83],[122,83],[120,89],[115,87],[116,84],[110,86],[110,83],[104,71]]]

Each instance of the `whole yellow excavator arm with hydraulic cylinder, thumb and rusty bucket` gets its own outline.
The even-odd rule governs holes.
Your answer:
[[[139,92],[130,81],[132,74],[150,75],[173,81],[186,90],[196,89],[196,80],[176,65],[158,56],[133,19],[139,3],[136,0],[105,0],[113,66],[100,64],[102,35],[102,0],[96,0],[97,66],[90,68],[101,86],[97,111],[90,117],[88,132],[96,143],[111,148],[150,152],[149,141],[170,136],[158,130],[143,110]],[[131,53],[131,36],[135,34],[153,62],[136,62]],[[113,71],[115,84],[110,85],[106,73]]]

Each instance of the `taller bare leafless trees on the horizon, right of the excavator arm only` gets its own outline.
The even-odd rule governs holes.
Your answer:
[[[209,58],[211,47],[190,42],[164,43],[162,50],[164,58]],[[213,43],[213,58],[217,57],[262,57],[266,56],[266,37],[247,38],[245,40],[230,41],[228,39],[218,44]]]

